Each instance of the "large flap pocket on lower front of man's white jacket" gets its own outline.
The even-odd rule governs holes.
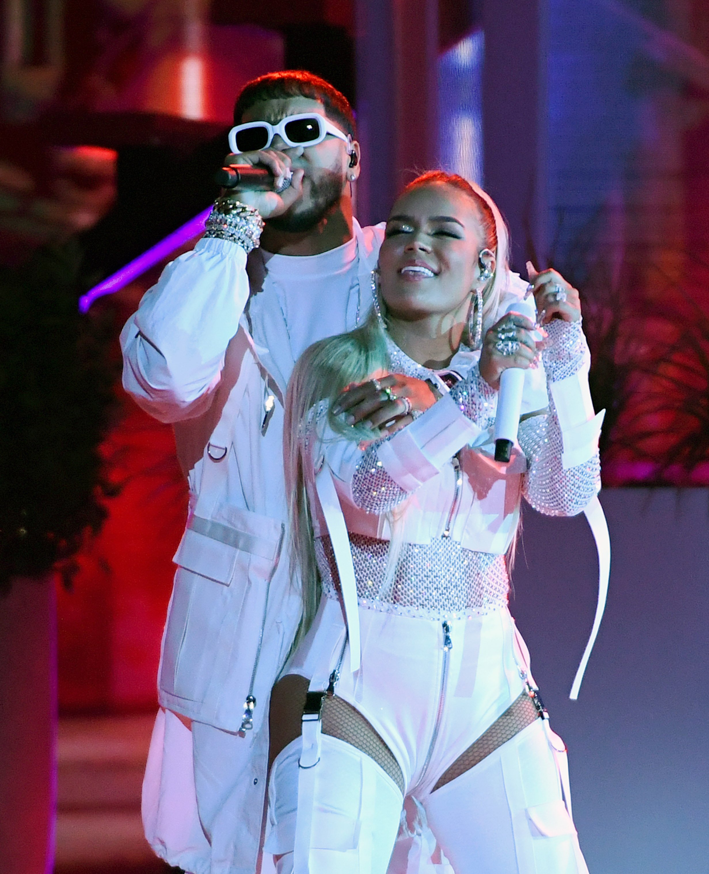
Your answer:
[[[225,693],[243,698],[231,687],[236,672],[250,675],[282,544],[275,519],[235,508],[228,518],[230,524],[191,517],[174,558],[163,642],[161,690],[204,705],[205,718]]]

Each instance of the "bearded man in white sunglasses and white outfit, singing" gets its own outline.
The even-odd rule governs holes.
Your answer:
[[[302,351],[365,317],[384,233],[352,216],[359,146],[327,82],[261,77],[234,121],[230,160],[267,167],[274,190],[219,198],[122,331],[123,384],[173,424],[190,485],[142,812],[157,855],[192,874],[260,865],[268,699],[300,615],[283,399]]]

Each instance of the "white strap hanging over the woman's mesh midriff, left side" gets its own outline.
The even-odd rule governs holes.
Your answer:
[[[325,523],[328,526],[332,551],[335,553],[337,573],[342,586],[342,600],[344,602],[344,619],[347,622],[347,637],[350,642],[350,667],[354,674],[359,669],[361,647],[359,642],[359,612],[357,603],[357,581],[355,579],[354,565],[352,564],[352,552],[350,538],[347,534],[347,525],[344,522],[340,499],[337,496],[335,482],[332,479],[332,471],[327,461],[323,463],[315,478],[317,496],[323,510]]]

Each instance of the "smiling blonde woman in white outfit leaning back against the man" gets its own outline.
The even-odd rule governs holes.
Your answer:
[[[272,702],[266,849],[280,874],[385,874],[407,797],[455,874],[587,871],[508,560],[522,496],[567,516],[596,495],[601,417],[578,293],[551,270],[531,278],[537,329],[502,315],[526,284],[496,206],[427,173],[393,207],[365,325],[296,364],[303,622]],[[491,426],[508,367],[525,393],[502,464]]]

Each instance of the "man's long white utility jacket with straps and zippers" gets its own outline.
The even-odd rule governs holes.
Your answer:
[[[355,225],[355,237],[339,323],[313,324],[301,344],[365,316],[382,229]],[[246,267],[240,246],[200,240],[165,268],[121,335],[123,385],[173,425],[190,486],[160,703],[229,732],[252,719],[261,725],[300,614],[288,567],[282,424],[288,377],[305,347],[293,348],[273,284],[250,289]]]

